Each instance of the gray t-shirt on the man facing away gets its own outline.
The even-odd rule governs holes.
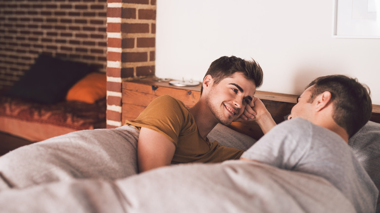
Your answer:
[[[242,158],[324,177],[357,212],[375,212],[379,191],[347,143],[338,134],[309,121],[295,118],[275,126]]]

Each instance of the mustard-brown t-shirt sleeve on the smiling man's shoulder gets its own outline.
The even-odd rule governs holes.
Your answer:
[[[187,110],[184,107],[186,106],[171,96],[163,95],[154,99],[134,121],[126,121],[125,124],[157,131],[177,146],[178,135],[189,117],[185,115]]]

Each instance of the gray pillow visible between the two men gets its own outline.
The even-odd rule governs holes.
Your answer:
[[[217,124],[207,137],[211,142],[217,141],[222,146],[233,147],[244,151],[256,142],[255,139],[230,129],[223,124]]]

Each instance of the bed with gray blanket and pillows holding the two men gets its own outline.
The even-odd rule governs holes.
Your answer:
[[[267,106],[284,105],[263,101],[273,102]],[[270,106],[268,109],[274,117],[285,120],[284,110],[280,110],[280,116]],[[376,112],[373,118],[377,121]],[[246,150],[256,142],[242,133],[249,130],[247,125],[218,124],[209,138]],[[22,178],[20,170],[12,170],[13,182],[5,182],[5,186],[0,182],[0,211],[355,212],[344,195],[322,177],[262,163],[232,160],[211,165],[182,164],[136,175],[137,137],[133,127],[121,126],[76,131],[19,148],[19,155],[34,160],[18,167],[25,170],[37,164],[40,170],[29,171],[27,179]],[[368,122],[349,145],[379,189],[380,124]],[[0,168],[15,160],[11,155],[1,159]],[[6,191],[7,185],[19,190]],[[16,205],[15,200],[24,205]]]

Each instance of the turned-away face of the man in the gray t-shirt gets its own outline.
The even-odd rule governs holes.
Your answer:
[[[311,113],[313,112],[312,103],[309,103],[311,97],[311,87],[307,88],[301,96],[297,98],[297,104],[293,106],[288,119],[300,117],[305,120],[310,120]]]

